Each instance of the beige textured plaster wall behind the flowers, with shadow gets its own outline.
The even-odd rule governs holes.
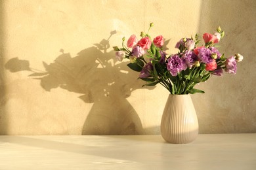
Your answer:
[[[256,1],[1,1],[0,134],[159,134],[168,92],[141,88],[114,58],[123,36],[170,39],[226,31],[221,52],[243,54],[236,76],[192,95],[200,133],[256,132]]]

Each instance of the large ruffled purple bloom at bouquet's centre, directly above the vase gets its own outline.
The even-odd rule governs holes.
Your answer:
[[[173,76],[177,76],[177,73],[187,68],[185,59],[180,58],[178,54],[174,54],[173,56],[168,58],[167,61],[167,69]]]

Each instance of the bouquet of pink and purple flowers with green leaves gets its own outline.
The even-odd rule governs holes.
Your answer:
[[[150,28],[153,23],[150,24]],[[148,33],[141,32],[138,41],[136,35],[131,35],[125,46],[123,37],[122,48],[114,46],[116,58],[122,61],[129,59],[127,64],[134,71],[140,72],[139,78],[144,80],[144,86],[161,84],[171,94],[204,93],[194,88],[199,82],[205,82],[211,75],[222,76],[223,72],[236,74],[237,62],[243,56],[235,54],[225,58],[215,47],[224,31],[217,28],[214,34],[204,33],[204,44],[198,46],[198,34],[191,38],[182,38],[175,48],[177,54],[167,55],[163,49],[164,39],[158,35],[152,41]]]

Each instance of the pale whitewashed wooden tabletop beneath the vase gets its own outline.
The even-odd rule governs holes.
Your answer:
[[[199,135],[169,144],[161,135],[0,136],[0,169],[256,169],[256,133]]]

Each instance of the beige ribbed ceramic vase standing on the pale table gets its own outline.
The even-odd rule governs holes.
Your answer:
[[[190,95],[169,94],[161,118],[161,136],[168,143],[191,143],[198,136],[198,117]]]

